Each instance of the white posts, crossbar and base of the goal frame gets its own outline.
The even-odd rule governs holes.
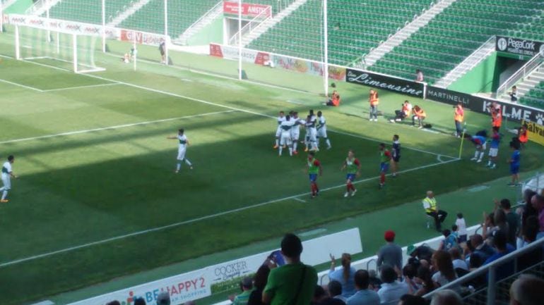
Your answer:
[[[57,54],[60,53],[60,49],[61,49],[61,45],[60,45],[60,39],[59,39],[59,35],[60,34],[65,34],[65,35],[69,35],[71,37],[71,51],[72,51],[72,59],[71,61],[67,61],[66,59],[63,59],[63,58],[55,58],[53,56],[35,56],[35,57],[27,57],[27,58],[24,58],[23,56],[21,56],[21,44],[20,44],[20,27],[21,25],[15,25],[15,54],[16,54],[16,59],[19,60],[19,61],[24,61],[24,60],[34,60],[34,59],[42,59],[42,58],[45,58],[45,59],[51,59],[51,60],[54,60],[54,61],[63,61],[65,63],[71,63],[72,64],[72,71],[73,73],[92,73],[92,72],[100,72],[100,71],[105,71],[106,69],[105,68],[100,68],[100,67],[95,67],[95,66],[89,66],[89,65],[86,65],[86,64],[83,64],[83,63],[79,63],[78,62],[78,37],[93,37],[93,35],[82,35],[82,34],[76,34],[76,33],[73,33],[73,32],[66,32],[66,31],[63,31],[63,30],[58,30],[58,29],[47,29],[47,28],[43,28],[43,27],[32,27],[32,26],[28,26],[28,25],[25,25],[24,27],[29,27],[29,28],[33,28],[33,29],[37,29],[37,30],[45,30],[47,31],[47,37],[49,39],[49,37],[51,37],[52,34],[56,33],[57,34],[57,39],[55,39],[55,42],[56,42],[56,46],[57,46]],[[90,50],[90,52],[94,52],[93,49]],[[91,54],[91,57],[94,58],[93,54]],[[81,68],[83,67],[83,68]]]

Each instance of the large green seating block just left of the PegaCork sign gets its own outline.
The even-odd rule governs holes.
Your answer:
[[[544,2],[536,0],[458,0],[370,70],[412,79],[420,69],[433,84],[492,35],[520,36],[534,21],[542,22],[543,8]]]

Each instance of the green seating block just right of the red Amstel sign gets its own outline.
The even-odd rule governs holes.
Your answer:
[[[428,0],[329,3],[329,62],[347,65],[357,60],[429,6]],[[321,1],[309,0],[249,48],[319,61],[323,53],[322,19]]]

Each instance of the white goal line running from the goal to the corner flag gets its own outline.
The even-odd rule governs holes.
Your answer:
[[[1,56],[1,55],[0,55]],[[9,56],[1,56],[1,57],[6,57],[6,58],[11,58]],[[57,69],[57,70],[63,70],[63,71],[68,71],[68,72],[71,72],[70,70],[67,70],[67,69],[64,69],[64,68],[59,68],[59,67],[55,67],[55,66],[49,66],[49,65],[46,65],[46,64],[43,64],[43,63],[36,63],[34,61],[25,61],[25,62],[28,62],[28,63],[33,63],[35,65],[39,65],[39,66],[45,66],[45,67],[49,67],[49,68],[54,68],[54,69]],[[162,90],[159,90],[159,89],[153,89],[153,88],[150,88],[150,87],[144,87],[144,86],[141,86],[141,85],[135,85],[135,84],[131,84],[129,82],[122,82],[122,81],[119,81],[119,80],[112,80],[110,78],[107,78],[107,77],[101,77],[101,76],[97,76],[97,75],[91,75],[91,74],[83,74],[87,77],[93,77],[93,78],[96,78],[98,80],[105,80],[105,81],[108,81],[108,82],[117,82],[119,84],[122,84],[122,85],[126,85],[126,86],[129,86],[129,87],[134,87],[134,88],[138,88],[138,89],[143,89],[143,90],[147,90],[147,91],[150,91],[150,92],[156,92],[156,93],[160,93],[160,94],[165,94],[165,95],[169,95],[170,97],[179,97],[179,98],[182,98],[182,99],[188,99],[190,101],[198,101],[199,103],[203,103],[203,104],[208,104],[208,105],[213,105],[213,106],[218,106],[218,107],[223,107],[223,108],[227,108],[227,109],[232,109],[232,110],[235,110],[235,111],[240,111],[240,112],[245,112],[245,113],[252,113],[256,116],[264,116],[266,118],[273,118],[273,119],[276,119],[276,117],[274,116],[268,116],[264,113],[258,113],[256,111],[250,111],[250,110],[247,110],[247,109],[242,109],[242,108],[236,108],[236,107],[232,107],[232,106],[226,106],[226,105],[223,105],[223,104],[217,104],[217,103],[213,103],[211,101],[204,101],[203,99],[196,99],[194,97],[186,97],[184,95],[181,95],[181,94],[175,94],[175,93],[172,93],[172,92],[167,92],[167,91],[162,91]],[[217,76],[217,75],[212,75],[212,76]],[[337,130],[329,130],[331,132],[336,132],[340,135],[348,135],[348,136],[351,136],[351,137],[358,137],[360,139],[367,139],[369,141],[372,141],[372,142],[382,142],[378,139],[372,139],[372,138],[369,138],[369,137],[364,137],[364,136],[361,136],[361,135],[355,135],[353,133],[349,133],[349,132],[341,132],[341,131],[337,131]],[[0,142],[1,144],[1,142]],[[415,149],[415,148],[411,148],[411,147],[404,147],[405,149],[410,149],[410,150],[413,150],[413,151],[420,151],[420,152],[423,152],[423,153],[426,153],[426,154],[432,154],[432,155],[437,155],[437,153],[433,153],[431,151],[425,151],[425,150],[422,150],[422,149]],[[446,155],[442,155],[442,156],[446,156]],[[453,157],[453,156],[447,156],[448,158],[451,158],[451,159],[456,159],[456,157]]]

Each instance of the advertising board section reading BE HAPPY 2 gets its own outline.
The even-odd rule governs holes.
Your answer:
[[[120,301],[121,304],[131,305],[134,304],[134,299],[140,297],[146,301],[146,304],[154,305],[157,304],[160,292],[168,292],[173,305],[208,297],[211,295],[211,289],[206,278],[206,269],[103,294],[100,297],[85,299],[69,305],[104,305],[114,300]]]

